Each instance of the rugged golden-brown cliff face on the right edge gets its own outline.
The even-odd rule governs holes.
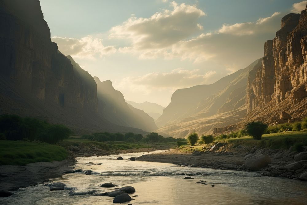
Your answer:
[[[276,37],[265,43],[262,65],[249,74],[246,119],[269,122],[282,111],[293,117],[307,114],[301,109],[307,97],[306,14],[303,10],[283,17]]]

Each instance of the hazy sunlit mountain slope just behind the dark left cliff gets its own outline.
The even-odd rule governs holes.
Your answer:
[[[124,96],[115,90],[111,81],[101,82],[98,77],[94,77],[97,83],[99,111],[112,123],[140,128],[145,131],[157,129],[152,117],[143,110],[127,104]]]

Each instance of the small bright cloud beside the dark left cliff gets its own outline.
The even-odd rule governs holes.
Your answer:
[[[51,38],[51,41],[58,45],[64,55],[72,57],[93,59],[96,56],[102,57],[116,52],[114,46],[104,46],[102,39],[90,35],[80,39],[55,36]]]

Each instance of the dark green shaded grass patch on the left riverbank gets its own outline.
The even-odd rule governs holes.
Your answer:
[[[68,152],[56,145],[23,141],[0,141],[0,165],[26,165],[66,159]]]

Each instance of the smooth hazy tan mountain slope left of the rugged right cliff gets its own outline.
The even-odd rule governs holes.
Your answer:
[[[221,78],[210,85],[197,85],[173,93],[170,104],[157,120],[157,132],[185,137],[192,132],[212,133],[214,128],[230,126],[246,115],[245,96],[251,69],[260,66],[256,60],[245,69]],[[225,131],[226,128],[220,129]],[[216,132],[216,131],[215,131]]]

